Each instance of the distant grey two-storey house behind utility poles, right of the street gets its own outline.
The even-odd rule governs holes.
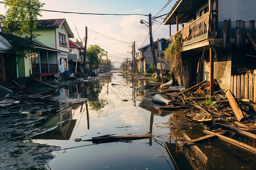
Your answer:
[[[159,50],[160,50],[160,55],[163,63],[165,61],[164,52],[168,47],[169,43],[170,41],[167,39],[164,39],[164,38],[159,39]],[[156,62],[160,63],[159,55],[158,55],[158,41],[154,42],[154,49],[155,49]],[[146,73],[148,67],[150,65],[154,65],[154,59],[152,57],[150,44],[144,45],[138,50],[139,50],[139,57],[137,58],[138,69]]]

